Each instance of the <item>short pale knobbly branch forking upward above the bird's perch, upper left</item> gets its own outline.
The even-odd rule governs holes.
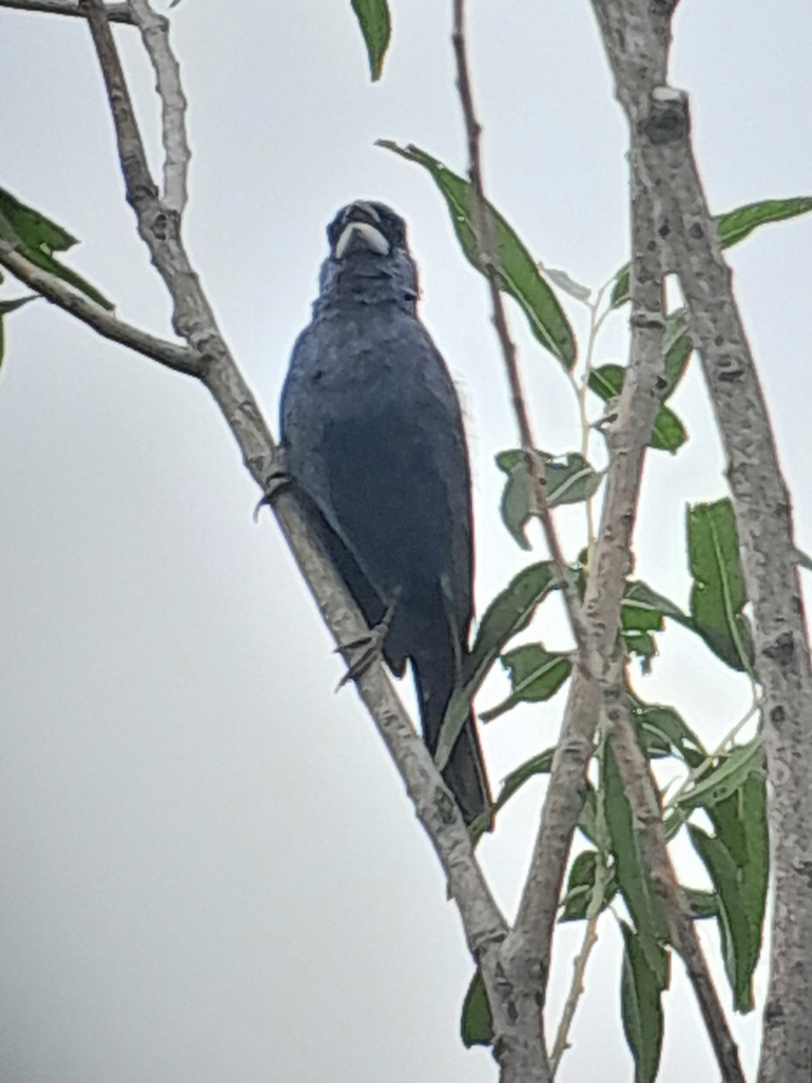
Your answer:
[[[130,10],[153,63],[161,103],[165,154],[161,201],[167,210],[182,214],[186,206],[192,152],[186,139],[186,97],[181,86],[181,69],[169,43],[169,19],[157,15],[148,0],[130,0]]]

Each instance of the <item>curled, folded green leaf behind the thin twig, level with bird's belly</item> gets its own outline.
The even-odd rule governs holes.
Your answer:
[[[588,500],[601,484],[601,474],[582,455],[569,452],[564,456],[537,451],[543,460],[547,503],[550,508],[562,504]],[[534,514],[535,501],[527,477],[527,455],[521,449],[500,452],[496,465],[508,475],[501,500],[502,522],[523,549],[529,549],[525,535],[527,522]]]

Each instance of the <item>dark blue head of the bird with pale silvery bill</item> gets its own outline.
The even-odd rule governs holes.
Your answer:
[[[322,298],[337,293],[361,302],[398,300],[414,308],[417,269],[406,245],[406,224],[380,203],[342,207],[327,226],[330,255],[322,266]]]

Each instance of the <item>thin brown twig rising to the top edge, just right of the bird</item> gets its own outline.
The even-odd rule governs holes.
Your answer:
[[[454,29],[451,41],[454,43],[454,54],[457,61],[457,87],[459,90],[462,115],[466,122],[466,134],[468,136],[469,175],[471,180],[471,224],[474,235],[474,245],[480,266],[485,275],[490,293],[493,306],[493,319],[496,332],[501,347],[505,370],[508,375],[510,393],[513,402],[513,412],[519,426],[519,435],[522,449],[526,456],[526,470],[529,481],[531,492],[534,495],[534,510],[541,520],[547,547],[550,551],[553,564],[558,572],[561,589],[567,611],[567,617],[572,627],[573,637],[577,644],[581,643],[581,618],[580,601],[569,577],[567,576],[564,553],[559,542],[555,524],[550,512],[547,500],[546,467],[543,459],[536,452],[536,442],[533,436],[529,412],[522,390],[522,378],[519,373],[516,360],[516,348],[510,336],[508,317],[505,312],[501,289],[499,288],[499,270],[495,255],[495,238],[493,236],[493,220],[488,213],[487,200],[485,198],[485,186],[483,180],[482,156],[480,154],[480,136],[482,126],[476,119],[476,112],[473,103],[473,90],[471,87],[471,76],[468,64],[468,50],[466,45],[466,10],[464,0],[454,0]]]

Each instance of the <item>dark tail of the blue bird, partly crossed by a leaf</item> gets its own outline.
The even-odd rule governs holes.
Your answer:
[[[455,687],[455,660],[453,656],[443,658],[444,653],[448,652],[427,652],[419,660],[412,658],[423,738],[432,755],[436,752],[443,716]],[[456,797],[467,824],[490,807],[485,761],[473,712],[457,738],[443,769],[443,778]]]

